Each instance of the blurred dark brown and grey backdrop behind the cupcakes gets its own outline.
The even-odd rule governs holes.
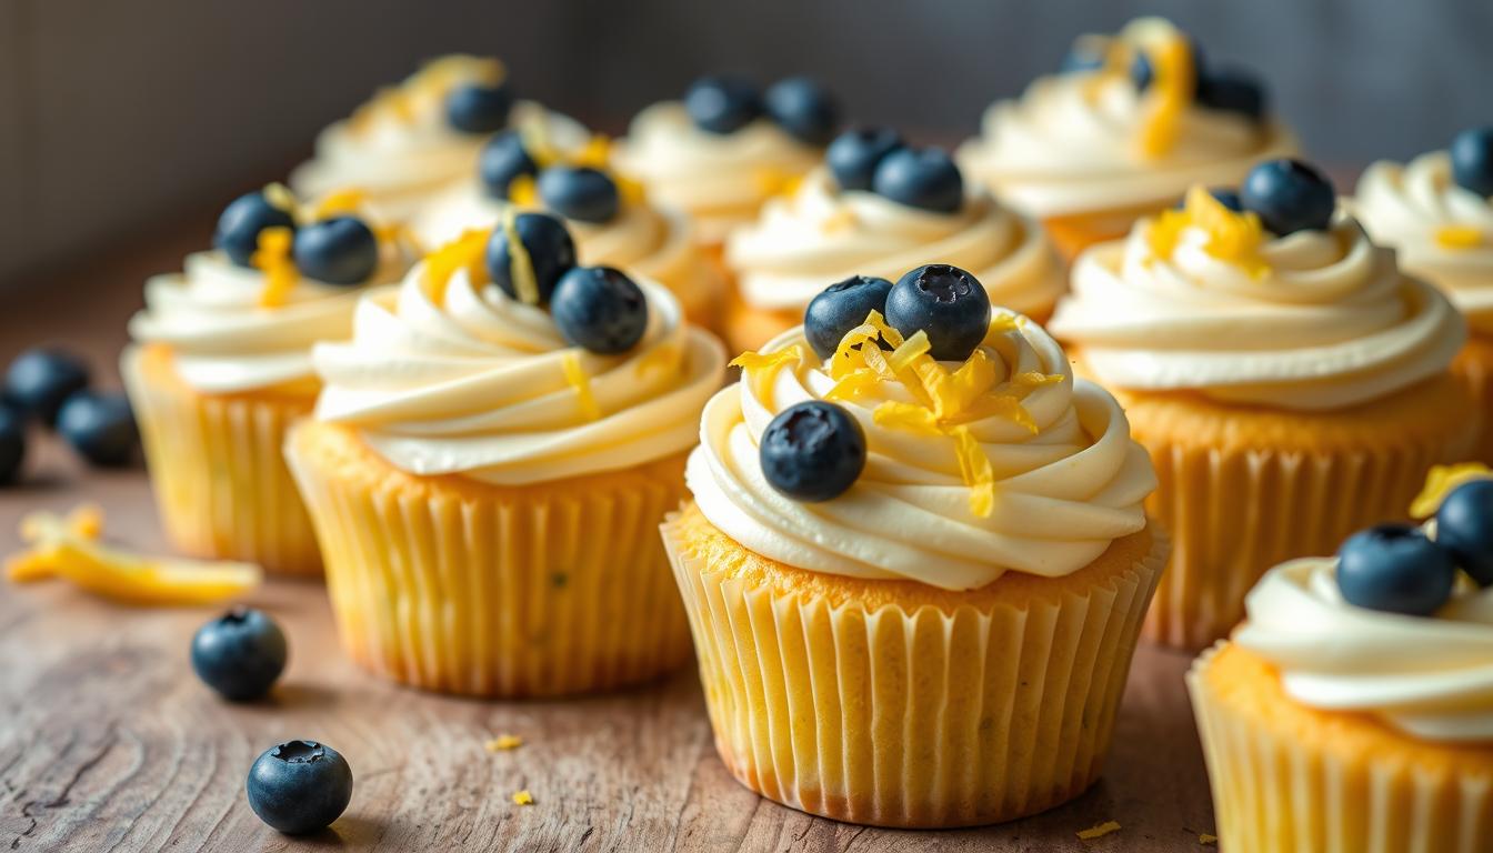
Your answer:
[[[1081,31],[1160,13],[1256,67],[1338,170],[1493,121],[1489,0],[0,0],[0,288],[212,220],[378,85],[451,51],[620,131],[702,72],[811,73],[954,143]],[[139,285],[139,282],[131,282]]]

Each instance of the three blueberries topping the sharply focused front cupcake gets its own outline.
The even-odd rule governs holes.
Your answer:
[[[990,330],[984,285],[956,266],[935,263],[908,272],[896,284],[863,275],[832,284],[805,309],[805,338],[820,359],[829,359],[872,311],[905,338],[926,333],[929,354],[939,362],[969,359]],[[878,344],[890,347],[887,341]],[[767,424],[757,453],[763,477],[776,491],[794,500],[830,500],[864,471],[866,433],[844,406],[806,400]]]

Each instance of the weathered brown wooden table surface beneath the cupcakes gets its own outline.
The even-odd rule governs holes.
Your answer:
[[[205,220],[211,221],[211,220]],[[181,230],[88,258],[0,296],[0,359],[57,342],[105,384],[151,272],[206,238]],[[164,548],[143,471],[88,474],[36,438],[25,484],[0,490],[0,553],[36,508],[105,506],[113,539]],[[37,447],[39,445],[39,447]],[[1202,751],[1182,690],[1188,656],[1142,647],[1102,781],[1078,801],[1005,826],[897,832],[779,807],[715,756],[691,671],[646,689],[567,702],[478,702],[384,683],[337,648],[320,584],[273,581],[248,599],[281,621],[291,662],[275,698],[218,701],[188,642],[216,609],[131,609],[63,583],[0,583],[0,852],[87,850],[640,850],[1171,852],[1208,850]],[[524,745],[488,753],[515,733]],[[287,838],[249,810],[243,778],[264,748],[322,739],[352,765],[346,814]],[[534,804],[514,805],[520,789]],[[1084,841],[1078,832],[1121,829]]]

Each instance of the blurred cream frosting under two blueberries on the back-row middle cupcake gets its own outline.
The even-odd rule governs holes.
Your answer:
[[[821,155],[766,118],[735,133],[711,133],[690,121],[684,105],[664,102],[633,118],[612,163],[658,205],[688,214],[700,239],[720,242]]]

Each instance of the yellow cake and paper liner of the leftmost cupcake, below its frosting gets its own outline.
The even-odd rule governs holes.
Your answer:
[[[290,424],[311,414],[315,390],[202,394],[176,376],[164,347],[127,350],[121,373],[172,544],[196,557],[320,577],[321,550],[281,451]]]

